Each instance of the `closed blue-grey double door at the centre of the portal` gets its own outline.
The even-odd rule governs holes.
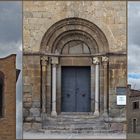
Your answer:
[[[90,67],[62,67],[62,112],[90,112]]]

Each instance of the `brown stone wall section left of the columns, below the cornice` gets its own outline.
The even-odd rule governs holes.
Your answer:
[[[23,57],[23,80],[24,80],[24,97],[23,97],[23,121],[25,129],[40,128],[40,96],[41,96],[41,73],[40,57],[24,56]],[[35,123],[29,123],[35,122]]]

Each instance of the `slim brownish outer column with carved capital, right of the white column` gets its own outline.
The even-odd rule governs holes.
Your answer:
[[[108,57],[103,56],[102,57],[102,63],[104,67],[104,116],[108,116],[108,109],[107,109],[107,94],[108,94],[108,73],[107,73],[107,66],[108,66]]]

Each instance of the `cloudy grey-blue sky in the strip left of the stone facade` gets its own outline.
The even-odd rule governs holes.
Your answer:
[[[17,54],[16,67],[22,68],[22,5],[21,2],[0,1],[0,58]],[[17,138],[21,138],[22,73],[17,81]]]

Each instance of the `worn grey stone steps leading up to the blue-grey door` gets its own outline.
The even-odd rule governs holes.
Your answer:
[[[92,115],[58,115],[46,117],[43,129],[47,133],[106,133],[109,125],[103,118]]]

